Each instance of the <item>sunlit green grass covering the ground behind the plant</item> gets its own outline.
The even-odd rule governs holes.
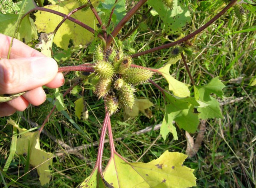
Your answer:
[[[191,33],[212,18],[222,6],[222,1],[201,1],[196,5],[194,1],[186,1],[189,5],[192,22],[187,26],[186,34]],[[216,7],[220,7],[217,8]],[[212,11],[214,10],[214,11]],[[1,9],[2,12],[2,9]],[[130,25],[124,27],[123,33],[129,32],[130,27],[135,27],[138,22],[135,16]],[[158,18],[150,17],[149,27],[161,32]],[[148,23],[150,23],[148,22]],[[188,64],[196,84],[204,85],[212,77],[219,76],[225,83],[225,98],[243,100],[222,106],[224,119],[208,120],[203,143],[195,157],[188,158],[185,165],[195,169],[198,187],[255,187],[256,185],[256,161],[255,161],[255,136],[256,136],[256,113],[255,113],[255,87],[249,83],[255,75],[255,39],[256,31],[255,15],[248,14],[248,22],[241,25],[227,12],[221,19],[208,27],[204,32],[193,38],[195,44],[193,58],[188,59]],[[247,31],[246,29],[251,29]],[[244,31],[245,30],[245,31]],[[136,31],[127,40],[136,51],[144,51],[149,48],[166,43],[167,40],[157,37],[151,32]],[[150,41],[150,42],[149,42]],[[54,50],[59,51],[58,48]],[[148,67],[161,67],[168,60],[169,50],[162,50],[135,59],[135,64]],[[60,66],[68,64],[81,64],[91,61],[92,57],[86,53],[75,51],[70,59],[60,62]],[[180,81],[190,83],[188,74],[182,62],[171,67],[171,73]],[[60,88],[65,92],[77,79],[78,74],[66,75],[66,84]],[[238,81],[234,79],[242,77]],[[161,77],[156,76],[157,83],[163,88],[168,88],[167,83]],[[86,85],[86,80],[79,82],[77,92],[68,94],[65,98],[67,109],[65,112],[75,121],[70,122],[65,114],[55,112],[44,130],[48,135],[41,134],[41,148],[47,152],[58,154],[53,159],[52,180],[45,187],[76,187],[87,177],[93,168],[97,156],[97,146],[93,143],[99,140],[100,123],[104,119],[103,100],[98,100],[92,92],[92,86]],[[52,90],[46,89],[47,97],[52,98]],[[88,104],[89,117],[87,120],[79,120],[75,116],[74,102],[83,97]],[[159,130],[149,131],[139,135],[133,132],[145,127],[157,125],[162,122],[164,115],[164,101],[161,93],[152,85],[145,84],[138,87],[138,98],[149,98],[155,106],[151,107],[153,117],[147,118],[143,114],[131,120],[124,120],[123,111],[111,118],[114,138],[123,138],[116,141],[116,151],[126,157],[128,161],[137,161],[140,156],[141,162],[148,162],[159,157],[165,150],[185,153],[186,137],[184,130],[178,130],[179,140],[174,141],[169,135],[164,141],[159,137]],[[220,101],[224,100],[220,99]],[[44,118],[51,110],[52,104],[45,102],[39,107],[30,106],[26,111],[11,116],[13,120],[20,121],[20,126],[32,129],[28,120],[41,125]],[[9,155],[12,138],[12,127],[6,125],[6,119],[1,118],[0,130],[0,165],[1,168]],[[81,131],[82,130],[82,131]],[[83,149],[74,153],[67,153],[55,138],[70,148],[86,145]],[[155,142],[156,141],[156,142]],[[155,144],[152,145],[152,143]],[[109,145],[105,145],[103,165],[109,159]],[[29,172],[26,181],[19,179],[24,174],[26,158],[15,156],[6,173],[2,170],[2,185],[8,187],[40,187],[38,175],[35,170]],[[32,167],[29,167],[31,170]]]

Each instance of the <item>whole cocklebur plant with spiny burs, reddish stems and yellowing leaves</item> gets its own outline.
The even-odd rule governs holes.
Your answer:
[[[157,3],[155,3],[156,1]],[[22,10],[24,9],[24,11],[21,11],[22,14],[20,18],[18,18],[18,24],[20,25],[19,32],[22,33],[24,29],[24,26],[22,25],[24,23],[21,22],[21,20],[27,19],[30,13],[38,11],[35,13],[35,23],[37,30],[39,32],[49,33],[47,34],[46,39],[42,37],[42,41],[40,41],[41,50],[45,48],[49,51],[52,48],[52,42],[55,43],[58,47],[67,50],[67,44],[69,44],[69,39],[73,40],[74,45],[80,44],[82,40],[84,42],[83,44],[92,42],[93,37],[99,38],[101,40],[101,42],[95,42],[91,45],[91,51],[94,54],[94,60],[92,62],[84,63],[83,65],[59,68],[60,72],[82,71],[92,73],[89,76],[93,79],[93,82],[91,83],[93,83],[95,88],[94,93],[99,99],[103,99],[103,107],[105,107],[106,111],[100,134],[97,161],[94,165],[91,175],[88,176],[80,184],[80,187],[127,187],[127,185],[129,185],[130,187],[195,186],[196,177],[192,173],[193,170],[182,165],[184,160],[187,158],[187,156],[182,153],[166,151],[158,159],[148,162],[146,164],[139,162],[132,163],[124,159],[124,157],[118,154],[115,150],[110,116],[114,116],[115,113],[117,113],[121,108],[132,109],[136,102],[135,92],[137,85],[149,82],[153,84],[157,89],[159,89],[164,97],[165,114],[160,130],[160,133],[164,139],[166,139],[169,133],[172,133],[174,139],[178,139],[176,127],[172,124],[172,121],[175,121],[180,129],[184,129],[188,132],[193,133],[197,129],[199,119],[205,120],[208,118],[221,118],[222,114],[220,111],[219,103],[215,98],[211,96],[211,94],[222,97],[222,89],[224,88],[224,84],[218,78],[214,78],[206,85],[196,85],[190,73],[189,67],[186,63],[185,55],[189,57],[192,55],[193,52],[193,44],[190,42],[190,39],[198,33],[202,32],[209,25],[211,25],[222,14],[228,11],[229,8],[235,6],[234,12],[236,18],[245,20],[245,12],[241,8],[241,6],[243,5],[242,3],[238,4],[242,1],[226,1],[227,5],[225,6],[225,8],[221,10],[214,18],[212,18],[204,26],[200,27],[193,33],[186,36],[183,35],[183,27],[186,26],[187,20],[189,20],[189,11],[188,8],[183,7],[182,4],[178,4],[177,0],[134,1],[134,6],[131,8],[131,10],[126,14],[122,15],[121,17],[118,17],[118,12],[115,12],[115,8],[117,7],[116,5],[118,4],[119,6],[121,6],[120,4],[124,2],[125,1],[121,2],[117,0],[106,2],[96,0],[78,0],[78,5],[73,1],[65,1],[59,2],[59,4],[57,5],[52,4],[45,7],[39,7],[35,4],[29,4],[29,1],[27,0],[23,0]],[[134,16],[135,13],[138,12],[143,5],[146,5],[145,9],[148,9],[148,14],[152,9],[154,9],[159,14],[164,25],[163,28],[165,29],[165,34],[175,34],[180,35],[180,37],[178,37],[176,40],[173,37],[172,40],[174,42],[166,43],[164,45],[160,45],[146,51],[140,51],[138,53],[136,53],[136,51],[132,49],[132,47],[126,47],[122,42],[122,38],[118,37],[118,34],[120,33],[121,29],[125,27],[125,24],[127,24],[127,22],[131,20],[132,16]],[[96,9],[96,6],[98,6],[99,9]],[[111,9],[107,10],[107,7],[109,6],[111,7]],[[56,7],[58,7],[58,10],[62,10],[64,13],[56,11]],[[91,25],[89,26],[86,24],[86,21],[90,21],[90,19],[84,20],[83,22],[72,17],[72,15],[78,13],[80,9],[87,9],[84,14],[90,15],[91,17],[95,18],[95,20],[97,20],[98,22],[98,25],[95,24],[94,21],[93,23],[90,23]],[[73,11],[70,12],[70,10]],[[174,17],[171,16],[175,14],[175,12],[176,15]],[[180,12],[184,12],[184,14]],[[81,19],[82,17],[85,17],[84,14],[80,16]],[[46,19],[49,15],[49,19]],[[54,20],[55,15],[63,17],[63,19],[59,21],[58,25],[54,26],[54,28],[50,28],[50,26],[40,27],[40,24],[43,22],[44,19],[47,20],[47,22],[51,22],[52,19]],[[165,17],[163,18],[162,15],[170,15],[170,18],[164,19]],[[76,16],[79,17],[79,15],[77,14]],[[176,23],[174,23],[173,20],[179,20],[180,17],[182,17],[180,25],[177,25]],[[58,20],[57,18],[55,19]],[[68,38],[70,35],[70,33],[68,33],[65,36],[68,40],[68,43],[62,41],[63,36],[61,36],[61,40],[60,38],[58,38],[59,33],[61,33],[58,32],[58,30],[61,30],[61,25],[65,21],[69,21],[68,25],[70,25],[70,23],[78,24],[84,29],[82,31],[79,31],[81,32],[78,33],[79,35],[74,29],[74,32],[72,33],[73,36],[70,36],[70,38]],[[35,27],[35,25],[33,25],[33,21],[31,22],[30,20],[29,23],[31,27]],[[144,17],[142,18],[141,23],[145,23]],[[168,26],[172,27],[169,28]],[[143,27],[145,29],[147,25],[145,26],[144,24]],[[53,33],[50,34],[52,30],[48,31],[47,29],[52,29]],[[70,28],[68,27],[68,29]],[[62,30],[63,33],[65,33],[68,29],[65,28],[65,31]],[[14,34],[15,32],[13,33],[13,35]],[[91,38],[88,37],[89,34],[91,34]],[[132,33],[129,33],[129,35],[131,34]],[[54,39],[52,35],[54,35]],[[171,58],[170,61],[173,62],[168,62],[159,69],[142,67],[134,64],[134,59],[136,59],[137,57],[148,53],[153,53],[162,49],[170,50],[168,56]],[[193,88],[191,90],[194,90],[194,96],[191,94],[192,92],[190,92],[188,84],[184,84],[183,82],[174,79],[170,75],[170,65],[172,63],[175,63],[179,59],[182,59],[185,64],[186,70],[193,85]],[[159,74],[160,76],[162,75],[167,80],[167,82],[169,83],[169,91],[164,90],[152,80],[152,78],[154,78],[153,76],[155,76],[156,74]],[[76,82],[76,84],[77,83],[78,82]],[[72,87],[74,87],[74,85]],[[64,93],[62,96],[60,92],[56,90],[56,102],[51,113],[54,111],[55,108],[58,108],[59,111],[63,111],[65,109],[65,106],[63,106],[63,97],[65,97],[66,94],[67,92]],[[12,99],[11,97],[9,97],[8,99]],[[6,98],[2,99],[5,101],[7,100]],[[81,101],[83,102],[83,100]],[[76,102],[75,104],[78,104],[78,102]],[[211,113],[212,111],[214,111],[214,113]],[[38,131],[38,139],[51,113],[47,116],[40,130]],[[13,122],[12,125],[17,127],[17,125]],[[111,156],[106,168],[103,170],[102,157],[107,130]],[[32,140],[26,140],[26,138],[22,139],[25,139],[25,141],[27,141],[28,143],[32,142]],[[39,169],[37,170],[39,175],[42,174],[42,171],[39,171]],[[48,170],[48,165],[47,167],[45,167],[44,170]],[[176,176],[178,178],[173,178],[173,176]],[[46,180],[44,179],[43,183],[41,183],[45,184],[47,183],[47,181],[50,181],[50,178],[48,176]]]

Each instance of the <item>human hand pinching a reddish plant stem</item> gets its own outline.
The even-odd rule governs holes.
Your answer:
[[[27,91],[11,101],[0,103],[0,117],[23,111],[28,104],[38,106],[46,100],[42,88],[58,88],[64,83],[62,73],[52,58],[13,39],[10,59],[7,59],[12,38],[0,34],[0,95]]]

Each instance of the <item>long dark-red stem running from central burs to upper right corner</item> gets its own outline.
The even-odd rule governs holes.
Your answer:
[[[208,21],[204,26],[200,27],[199,29],[197,29],[196,31],[194,31],[193,33],[183,37],[182,39],[178,40],[178,41],[175,41],[173,43],[168,43],[168,44],[164,44],[162,46],[158,46],[158,47],[155,47],[155,48],[152,48],[152,49],[149,49],[149,50],[146,50],[146,51],[142,51],[142,52],[139,52],[139,53],[136,53],[136,54],[133,54],[132,57],[139,57],[141,55],[145,55],[145,54],[148,54],[148,53],[152,53],[154,51],[158,51],[158,50],[162,50],[162,49],[165,49],[165,48],[170,48],[176,44],[179,44],[179,43],[183,43],[185,41],[187,41],[188,39],[194,37],[195,35],[197,35],[198,33],[200,33],[201,31],[203,31],[205,28],[207,28],[208,26],[210,26],[214,21],[216,21],[218,18],[220,18],[220,16],[222,14],[224,14],[230,7],[232,7],[235,3],[236,3],[237,0],[232,0],[230,1],[230,3],[222,10],[220,11],[216,16],[214,16],[210,21]]]

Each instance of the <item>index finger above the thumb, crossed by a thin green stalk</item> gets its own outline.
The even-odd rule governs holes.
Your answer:
[[[12,37],[0,34],[0,58],[6,59],[11,46]],[[30,48],[18,39],[13,39],[10,59],[44,56],[41,52]]]

